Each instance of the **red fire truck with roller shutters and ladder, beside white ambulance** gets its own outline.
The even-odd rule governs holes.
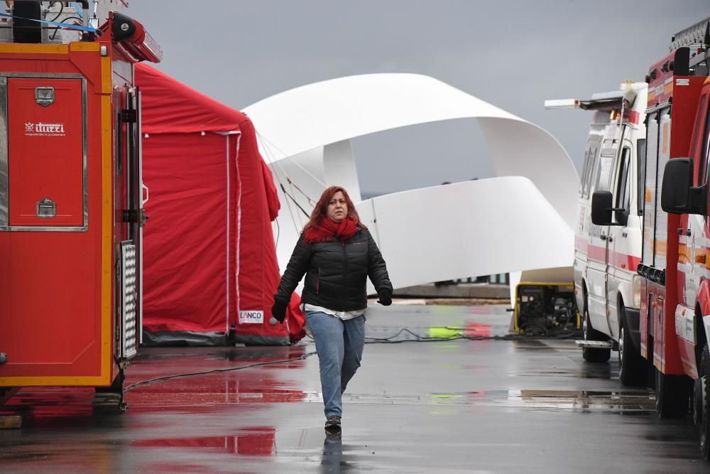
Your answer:
[[[710,458],[710,18],[677,33],[650,67],[646,109],[640,352],[655,375],[660,416],[692,406]],[[618,225],[611,195],[592,220]],[[692,402],[692,403],[691,403]]]

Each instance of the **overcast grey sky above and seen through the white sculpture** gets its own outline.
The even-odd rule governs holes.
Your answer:
[[[414,72],[542,126],[579,170],[591,114],[543,101],[643,80],[673,33],[710,16],[710,0],[131,0],[127,13],[162,46],[160,70],[231,107],[334,77]],[[475,119],[353,148],[363,193],[493,176]]]

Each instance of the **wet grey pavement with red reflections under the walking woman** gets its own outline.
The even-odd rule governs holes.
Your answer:
[[[710,472],[692,418],[658,419],[652,390],[621,387],[616,353],[589,364],[573,340],[446,340],[506,335],[503,306],[367,318],[341,436],[323,429],[309,338],[148,348],[126,370],[123,414],[96,409],[92,389],[18,392],[0,409],[23,415],[0,430],[0,472]],[[178,374],[192,375],[141,384]]]

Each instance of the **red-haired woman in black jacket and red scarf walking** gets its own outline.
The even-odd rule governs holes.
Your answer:
[[[280,323],[304,274],[301,300],[320,360],[325,427],[339,429],[342,394],[360,367],[365,343],[368,276],[378,303],[392,303],[385,261],[344,188],[324,190],[303,227],[271,308]]]

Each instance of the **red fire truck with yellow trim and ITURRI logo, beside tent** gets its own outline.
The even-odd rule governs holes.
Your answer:
[[[121,394],[146,222],[133,64],[162,53],[124,14],[94,29],[84,1],[82,25],[62,26],[43,3],[14,2],[13,41],[0,43],[0,395]],[[80,41],[48,41],[58,28],[80,28]]]

